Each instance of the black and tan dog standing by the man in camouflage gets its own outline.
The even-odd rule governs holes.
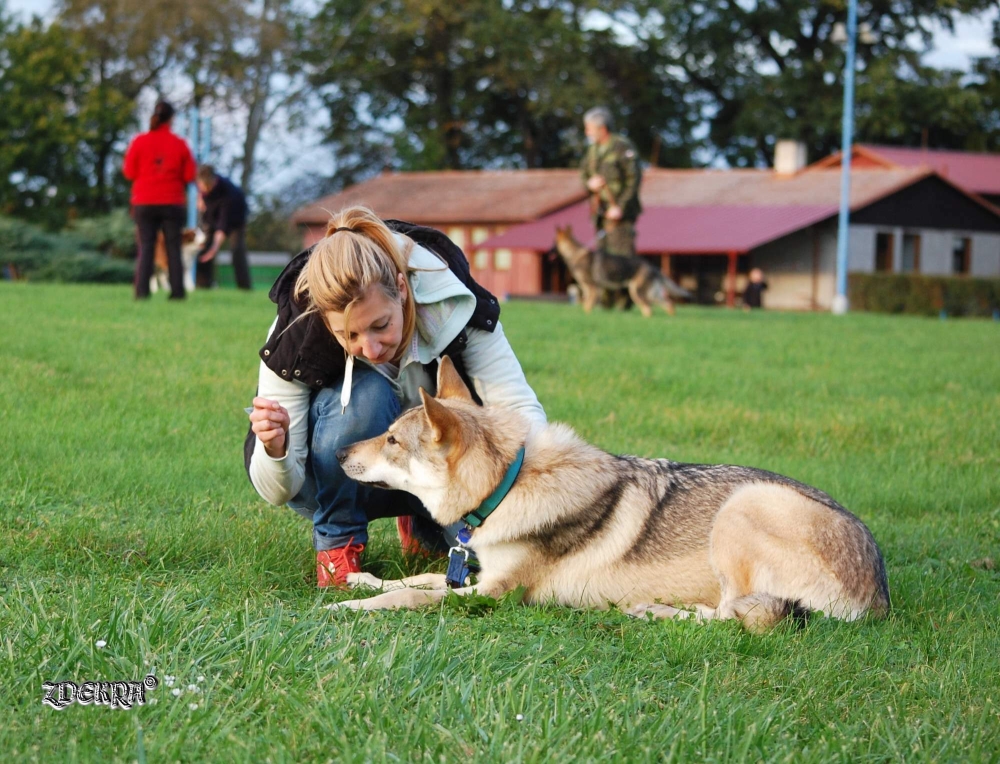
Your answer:
[[[642,315],[653,315],[650,303],[674,315],[672,297],[691,295],[641,257],[608,255],[601,247],[590,250],[573,237],[570,226],[556,227],[556,251],[583,292],[583,309],[590,313],[604,289],[627,288]]]

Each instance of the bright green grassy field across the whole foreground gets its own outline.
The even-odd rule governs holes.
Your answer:
[[[272,317],[263,290],[0,283],[5,761],[1000,759],[1000,324],[505,306],[551,419],[792,475],[871,527],[887,621],[751,636],[322,609],[350,595],[315,589],[309,527],[243,472]],[[375,527],[369,569],[427,568]],[[42,705],[46,681],[148,672],[141,708]]]

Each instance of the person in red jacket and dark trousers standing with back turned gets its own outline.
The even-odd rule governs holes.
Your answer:
[[[187,184],[196,171],[191,149],[170,131],[174,107],[159,101],[149,120],[149,132],[137,135],[125,152],[122,172],[132,181],[132,217],[139,228],[139,259],[135,270],[136,299],[149,297],[156,234],[163,231],[170,271],[170,299],[184,299],[181,232]]]

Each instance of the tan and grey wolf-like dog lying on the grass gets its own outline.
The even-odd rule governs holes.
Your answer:
[[[566,425],[532,427],[477,406],[447,357],[437,382],[437,397],[421,390],[423,406],[337,458],[349,477],[408,491],[449,525],[497,488],[524,448],[510,491],[472,531],[478,583],[456,594],[523,587],[531,603],[736,618],[752,631],[810,611],[844,620],[888,612],[878,545],[822,491],[750,467],[613,456]],[[386,591],[331,608],[413,608],[448,591],[441,574],[356,573],[348,584]]]

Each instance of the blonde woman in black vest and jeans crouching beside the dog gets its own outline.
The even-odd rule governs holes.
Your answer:
[[[313,523],[317,583],[360,572],[368,522],[397,517],[408,551],[447,548],[420,502],[348,478],[337,449],[385,432],[433,393],[448,355],[483,405],[536,422],[545,412],[500,325],[496,298],[444,234],[371,210],[335,215],[270,293],[278,306],[260,351],[245,458],[257,492]]]

